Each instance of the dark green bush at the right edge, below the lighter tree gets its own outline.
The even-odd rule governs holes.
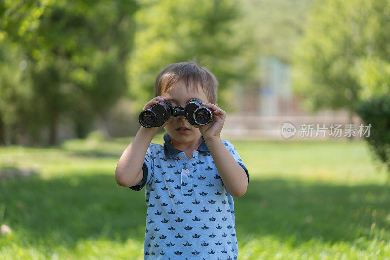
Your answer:
[[[366,140],[390,173],[390,95],[361,101],[356,111],[366,125],[372,125],[370,136]]]

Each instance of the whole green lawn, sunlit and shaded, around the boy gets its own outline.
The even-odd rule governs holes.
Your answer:
[[[364,142],[230,140],[250,174],[239,259],[389,259],[388,175]],[[130,141],[0,148],[1,167],[40,170],[0,181],[0,259],[143,259],[144,189],[114,180]]]

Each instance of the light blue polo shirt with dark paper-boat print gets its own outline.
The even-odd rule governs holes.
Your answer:
[[[203,138],[203,136],[202,136]],[[164,146],[150,144],[143,179],[148,206],[144,259],[237,259],[233,197],[227,192],[203,139],[190,160],[164,135]],[[245,170],[234,146],[223,144]]]

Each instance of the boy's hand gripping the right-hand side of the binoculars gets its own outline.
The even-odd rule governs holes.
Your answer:
[[[226,112],[218,108],[217,104],[202,103],[202,106],[208,107],[213,112],[213,119],[207,125],[196,125],[204,139],[213,139],[221,133],[223,123],[225,122]]]

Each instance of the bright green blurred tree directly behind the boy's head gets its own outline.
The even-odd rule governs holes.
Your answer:
[[[129,60],[129,96],[137,107],[154,96],[157,74],[171,63],[195,61],[219,81],[219,93],[250,81],[255,69],[243,55],[254,44],[250,35],[237,33],[242,18],[235,0],[143,0],[135,17],[137,33]],[[251,54],[253,57],[253,53]],[[246,56],[250,56],[246,53]],[[223,100],[218,100],[223,106]]]

